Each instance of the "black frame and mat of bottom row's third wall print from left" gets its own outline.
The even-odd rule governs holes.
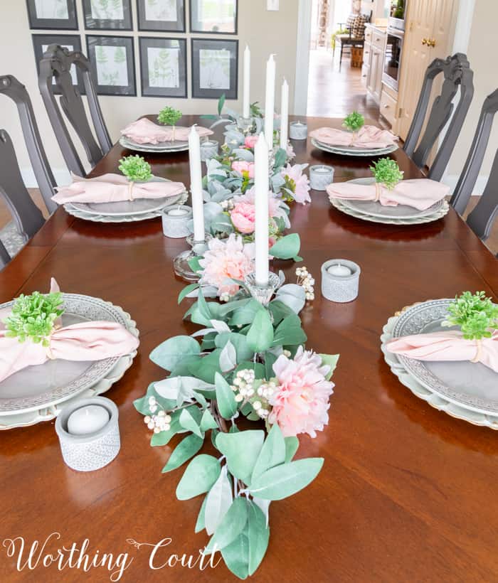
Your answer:
[[[162,77],[163,82],[165,82],[166,75],[164,73],[164,68],[162,69],[163,75],[160,74],[161,70],[161,55],[157,54],[154,60],[156,67],[154,67],[154,77],[151,75],[151,63],[149,60],[149,49],[172,49],[178,50],[178,72],[175,75],[173,70],[173,80],[178,81],[178,87],[166,87],[160,85],[160,82],[156,85],[153,80],[154,77]],[[187,91],[187,69],[186,69],[186,38],[164,38],[164,37],[150,37],[141,36],[139,37],[139,52],[140,52],[140,78],[142,82],[142,96],[143,97],[176,97],[177,99],[183,99],[188,97]],[[159,63],[159,64],[158,64]],[[171,77],[171,75],[169,75]],[[159,78],[158,78],[159,80]],[[159,80],[160,81],[160,80]]]

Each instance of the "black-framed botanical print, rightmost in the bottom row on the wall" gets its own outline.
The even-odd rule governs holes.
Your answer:
[[[238,41],[192,38],[192,97],[237,99]]]

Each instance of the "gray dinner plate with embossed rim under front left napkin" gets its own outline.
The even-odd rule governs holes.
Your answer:
[[[0,304],[0,309],[13,303]],[[63,326],[97,320],[128,326],[122,309],[102,299],[63,294],[63,307]],[[18,370],[0,382],[0,416],[36,411],[68,400],[98,383],[120,358],[92,362],[55,359]]]

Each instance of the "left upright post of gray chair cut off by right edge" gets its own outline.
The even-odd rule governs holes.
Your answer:
[[[457,186],[455,186],[450,200],[450,204],[460,215],[467,208],[477,177],[479,176],[496,112],[498,112],[498,89],[492,92],[491,95],[488,95],[482,104],[479,122],[477,122],[469,155],[467,156],[465,166],[462,169]]]

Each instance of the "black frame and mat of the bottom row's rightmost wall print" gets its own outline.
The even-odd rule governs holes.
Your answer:
[[[209,87],[212,82],[206,82],[206,70],[201,70],[204,65],[201,63],[202,50],[228,50],[228,87],[223,83],[219,83],[218,87]],[[238,40],[225,38],[191,38],[191,64],[192,64],[192,97],[196,99],[219,99],[221,95],[225,94],[226,99],[236,100],[238,98]],[[226,75],[226,69],[223,68],[223,60],[221,63],[213,66],[211,77],[216,75]],[[204,77],[204,78],[203,78]]]

